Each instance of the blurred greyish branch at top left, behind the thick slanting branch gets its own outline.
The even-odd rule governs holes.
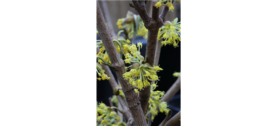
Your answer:
[[[101,1],[101,3],[102,3],[102,8],[103,8],[105,20],[107,22],[108,30],[110,32],[110,35],[112,37],[114,37],[114,36],[116,36],[116,32],[114,30],[112,19],[110,18],[110,14],[109,14],[109,11],[108,11],[108,6],[107,6],[107,1],[104,0],[104,1]]]

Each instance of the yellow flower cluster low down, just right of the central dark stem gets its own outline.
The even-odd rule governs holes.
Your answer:
[[[149,103],[149,110],[147,115],[152,113],[152,120],[154,120],[154,117],[158,114],[158,109],[161,113],[168,114],[170,109],[168,108],[167,102],[163,102],[160,99],[163,97],[164,92],[161,91],[154,91],[156,89],[157,85],[153,84],[151,85],[151,95],[150,95],[150,100],[148,101]],[[148,117],[146,115],[146,117]]]

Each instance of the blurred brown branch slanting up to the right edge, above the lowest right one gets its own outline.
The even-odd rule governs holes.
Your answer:
[[[161,101],[169,102],[180,89],[182,89],[182,76],[180,76],[167,93],[165,93]]]

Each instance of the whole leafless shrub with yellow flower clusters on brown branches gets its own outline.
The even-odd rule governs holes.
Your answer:
[[[130,6],[138,8],[140,5],[147,3],[138,4],[139,2],[134,1],[134,5],[130,4]],[[163,13],[168,13],[168,11],[175,9],[173,2],[173,0],[159,0],[153,4],[155,5],[153,7],[158,9],[164,6],[165,11]],[[108,31],[105,29],[105,23],[101,22],[103,17],[98,7],[98,0],[96,0],[96,19],[101,19],[96,21],[96,28],[99,30],[98,32],[96,29],[96,34],[100,33],[100,36],[105,38],[104,40],[96,40],[96,81],[108,80],[115,94],[110,98],[111,107],[96,101],[96,125],[146,126],[151,125],[150,122],[154,120],[159,112],[168,116],[172,114],[168,108],[167,102],[169,100],[164,99],[172,98],[177,92],[170,91],[167,94],[164,91],[156,90],[159,81],[157,72],[163,71],[163,69],[158,66],[158,60],[153,59],[159,58],[160,47],[156,48],[149,45],[151,43],[156,45],[155,43],[157,43],[157,46],[172,45],[178,47],[180,23],[178,23],[178,18],[174,21],[163,22],[160,19],[147,17],[147,13],[143,12],[143,9],[138,11],[142,11],[139,13],[140,15],[135,15],[129,11],[126,18],[119,19],[117,25],[120,31],[112,38],[106,39],[109,36],[103,36],[102,33],[108,33]],[[148,18],[149,20],[146,21]],[[162,24],[160,24],[161,22]],[[148,23],[155,25],[149,25]],[[104,29],[99,29],[98,25],[100,24],[104,26],[101,27]],[[148,27],[145,27],[146,25]],[[143,44],[141,42],[135,44],[136,36],[143,36],[148,40],[146,57],[141,55]],[[151,56],[152,58],[149,58]],[[118,81],[115,80],[110,70],[117,73]],[[182,73],[174,73],[173,76],[179,77],[180,82]],[[180,83],[178,84],[173,88],[181,89]],[[162,125],[167,125],[166,122],[167,120]]]

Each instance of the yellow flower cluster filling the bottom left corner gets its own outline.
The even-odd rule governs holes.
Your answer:
[[[96,125],[97,122],[100,122],[101,124],[105,125],[125,125],[126,124],[122,121],[120,121],[120,117],[117,115],[115,111],[112,110],[112,108],[107,107],[104,103],[97,103],[96,102]]]

